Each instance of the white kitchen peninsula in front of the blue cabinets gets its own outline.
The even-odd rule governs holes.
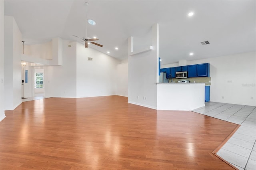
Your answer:
[[[205,83],[156,83],[157,109],[191,111],[204,106]]]

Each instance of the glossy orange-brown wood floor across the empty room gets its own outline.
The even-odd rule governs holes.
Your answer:
[[[6,111],[0,122],[0,169],[233,169],[212,152],[236,124],[127,101],[48,98]]]

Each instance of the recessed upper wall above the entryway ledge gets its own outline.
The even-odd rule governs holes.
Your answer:
[[[26,42],[24,42],[24,55],[42,59],[52,59],[52,41],[33,45],[26,45]]]

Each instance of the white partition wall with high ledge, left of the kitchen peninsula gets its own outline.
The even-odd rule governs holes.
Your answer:
[[[128,57],[128,103],[156,109],[156,82],[158,81],[158,24],[152,26],[152,35],[149,36],[152,38],[152,46],[154,49]],[[129,49],[131,49],[131,47],[129,47]],[[129,53],[130,52],[131,51],[129,51]],[[146,100],[143,99],[143,97],[146,97]]]

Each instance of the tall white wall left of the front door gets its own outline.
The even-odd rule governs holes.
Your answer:
[[[12,16],[4,16],[4,98],[5,110],[21,103],[22,35]]]

